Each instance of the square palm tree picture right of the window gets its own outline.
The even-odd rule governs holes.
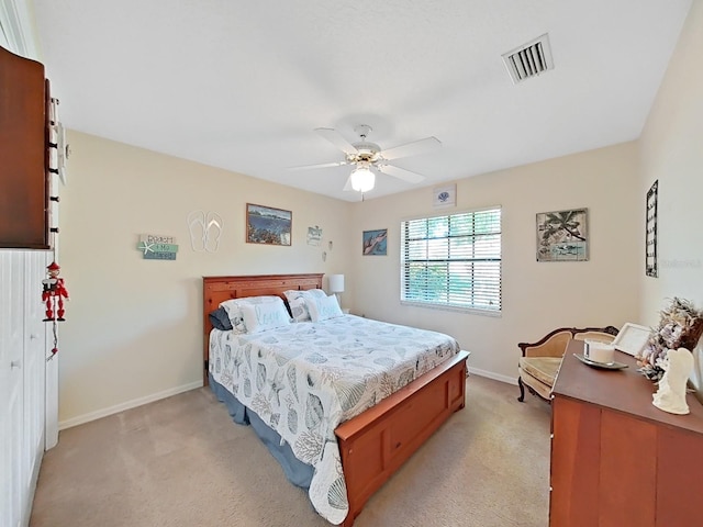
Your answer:
[[[537,261],[589,259],[588,209],[537,214]]]

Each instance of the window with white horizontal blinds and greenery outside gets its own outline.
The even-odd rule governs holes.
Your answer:
[[[401,301],[501,312],[501,210],[401,223]]]

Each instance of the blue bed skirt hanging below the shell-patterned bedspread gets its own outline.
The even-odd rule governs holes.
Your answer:
[[[209,380],[212,392],[227,407],[232,421],[239,425],[250,425],[261,442],[268,448],[268,451],[271,452],[271,456],[278,460],[288,481],[293,485],[308,490],[314,471],[313,467],[295,458],[290,445],[281,441],[281,436],[276,430],[264,423],[256,412],[247,408],[222,384],[217,383],[212,378],[212,374],[209,374]]]

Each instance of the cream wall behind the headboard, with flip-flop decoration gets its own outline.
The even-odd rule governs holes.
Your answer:
[[[63,427],[200,385],[203,276],[349,272],[349,203],[77,132],[68,139]],[[246,244],[247,202],[292,211],[292,246]],[[223,217],[219,253],[191,249],[186,217],[194,210]],[[306,244],[314,225],[324,247]],[[136,249],[142,233],[176,236],[177,260],[144,260]]]

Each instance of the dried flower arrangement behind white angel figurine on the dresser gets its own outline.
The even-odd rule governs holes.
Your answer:
[[[692,351],[703,335],[703,311],[688,300],[673,298],[661,311],[659,325],[649,334],[647,346],[636,357],[639,371],[651,381],[659,381],[665,373],[667,352],[685,348]]]

